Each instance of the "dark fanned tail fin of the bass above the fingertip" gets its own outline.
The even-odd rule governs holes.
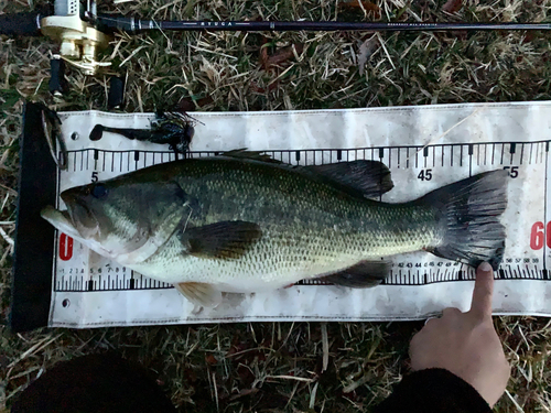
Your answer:
[[[473,267],[487,261],[497,270],[505,250],[499,218],[507,207],[507,172],[482,173],[433,191],[418,202],[440,210],[443,237],[426,250]]]

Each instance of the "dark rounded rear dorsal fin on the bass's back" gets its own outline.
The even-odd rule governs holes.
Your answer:
[[[320,175],[326,182],[333,183],[352,195],[367,198],[378,198],[395,186],[390,170],[378,161],[358,160],[303,169]]]

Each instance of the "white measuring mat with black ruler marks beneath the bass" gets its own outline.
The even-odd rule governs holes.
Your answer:
[[[87,139],[96,123],[147,128],[151,115],[91,111],[62,113],[61,117],[67,141],[68,169],[58,174],[58,193],[174,160],[166,148],[129,141],[116,134],[106,133],[97,142]],[[267,150],[274,159],[291,164],[376,160],[390,169],[395,182],[395,188],[382,196],[385,202],[414,199],[480,172],[507,170],[509,205],[503,218],[507,241],[504,261],[496,273],[496,279],[501,280],[496,285],[504,286],[498,291],[501,294],[498,309],[515,314],[551,314],[551,304],[548,308],[543,298],[538,301],[538,294],[531,293],[529,300],[519,295],[528,294],[522,289],[537,289],[539,294],[545,289],[551,291],[548,286],[551,283],[545,282],[551,279],[548,271],[551,265],[551,222],[548,219],[551,215],[547,202],[550,140],[545,139],[549,138],[550,104],[194,113],[194,117],[204,124],[196,128],[193,156],[249,148]],[[77,140],[69,138],[74,132],[79,137]],[[421,318],[430,311],[441,309],[439,306],[446,297],[462,305],[472,289],[472,283],[466,281],[474,279],[474,271],[467,265],[418,252],[397,256],[386,285],[377,289],[350,292],[312,281],[289,291],[278,291],[272,296],[260,294],[239,298],[238,311],[229,303],[217,313],[194,316],[185,298],[175,294],[172,285],[147,279],[90,253],[63,233],[57,235],[55,242],[52,325]],[[291,305],[288,314],[285,306],[293,294],[299,297],[294,300],[299,304]],[[333,308],[306,303],[313,297],[334,303]],[[119,308],[118,312],[117,305],[108,304],[112,300],[119,300],[125,311]],[[150,303],[151,307],[142,305],[141,311],[130,314],[128,306],[134,300]],[[155,300],[171,304],[160,309],[160,304],[153,304]],[[90,302],[105,311],[89,312]]]

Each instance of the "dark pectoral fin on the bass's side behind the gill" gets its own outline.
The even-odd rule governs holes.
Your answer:
[[[260,226],[247,221],[222,221],[187,228],[181,236],[186,253],[201,258],[241,258],[261,237]]]

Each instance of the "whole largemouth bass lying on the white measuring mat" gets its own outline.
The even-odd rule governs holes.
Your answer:
[[[131,172],[62,193],[42,216],[101,256],[172,283],[195,304],[324,278],[365,287],[390,256],[429,251],[469,265],[500,263],[504,171],[388,204],[379,162],[290,166],[234,151]],[[372,199],[376,198],[376,199]]]

